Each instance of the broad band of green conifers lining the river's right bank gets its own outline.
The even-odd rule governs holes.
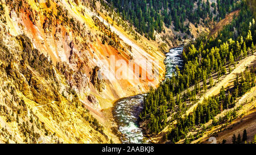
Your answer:
[[[256,24],[252,16],[251,11],[242,3],[240,15],[229,26],[226,26],[216,39],[208,39],[207,36],[201,36],[195,42],[185,47],[183,52],[183,70],[176,68],[176,73],[172,78],[166,79],[156,90],[151,90],[144,98],[144,110],[140,117],[142,120],[150,120],[147,127],[152,134],[157,134],[166,127],[168,115],[172,116],[172,120],[181,118],[187,110],[188,104],[191,105],[191,103],[196,102],[196,95],[200,91],[205,91],[208,87],[213,86],[213,73],[217,74],[217,78],[225,75],[227,72],[230,73],[234,62],[255,51]],[[236,31],[233,31],[233,29],[231,31],[230,27],[236,28]],[[218,43],[215,42],[216,40]],[[226,67],[229,68],[229,71],[226,70]],[[249,81],[254,82],[255,72],[251,73],[253,75],[247,76],[253,77],[250,78],[252,81]],[[203,83],[202,87],[200,82]],[[244,81],[242,83],[243,86],[247,85],[244,84]],[[217,101],[209,101],[209,104],[216,104],[215,106],[219,109],[214,109],[213,111],[212,108],[209,111],[208,108],[205,108],[204,117],[201,117],[200,114],[196,122],[200,124],[212,118],[205,117],[208,112],[210,114],[217,114],[223,109],[234,106],[233,101],[235,98],[248,90],[248,88],[237,88],[238,84],[235,86],[234,90],[237,92],[234,94],[236,95],[233,95],[230,91],[231,94],[228,95],[228,100],[223,95],[223,92],[226,91],[223,89],[220,92],[223,95],[221,98],[217,97],[217,100],[216,97],[212,97],[212,99]],[[250,86],[253,86],[253,84],[250,83]],[[248,87],[250,86],[248,84]],[[221,104],[222,107],[220,108]],[[171,136],[171,140],[173,138],[175,141],[178,140],[176,136]]]

